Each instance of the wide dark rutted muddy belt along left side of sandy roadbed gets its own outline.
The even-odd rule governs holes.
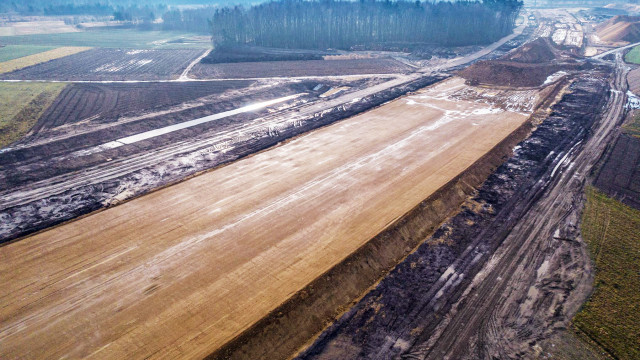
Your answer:
[[[0,184],[5,189],[0,233],[6,241],[140,195],[362,112],[437,79],[354,82],[348,91],[322,99],[317,95],[330,88],[331,82],[322,86],[316,82],[259,84],[250,87],[250,91],[243,89],[234,94],[232,90],[231,94],[223,94],[221,98],[225,101],[204,101],[166,113],[152,113],[149,117],[124,117],[121,122],[100,124],[95,119],[90,124],[96,127],[88,133],[76,133],[78,128],[69,127],[58,134],[61,129],[53,128],[52,141],[46,136],[36,137],[35,145],[26,141],[0,153],[5,169],[0,174]],[[355,86],[358,83],[368,86]],[[212,112],[234,110],[239,104],[251,104],[265,97],[301,93],[306,95],[266,111],[257,109],[226,116],[196,128],[117,148],[106,144]],[[72,136],[64,135],[65,132],[71,132]]]

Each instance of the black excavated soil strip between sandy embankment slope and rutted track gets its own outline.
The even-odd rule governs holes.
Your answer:
[[[465,286],[459,285],[473,278],[535,201],[530,189],[549,176],[557,154],[588,136],[606,100],[607,84],[579,80],[571,90],[458,215],[324,331],[299,359],[391,359],[420,353],[442,316],[460,298],[461,290],[456,289]],[[464,276],[435,287],[454,262],[455,271]]]

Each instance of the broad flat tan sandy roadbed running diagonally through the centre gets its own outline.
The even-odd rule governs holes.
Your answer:
[[[1,247],[0,357],[206,356],[527,118],[447,97],[462,87]]]

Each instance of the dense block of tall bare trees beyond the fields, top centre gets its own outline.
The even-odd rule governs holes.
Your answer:
[[[349,49],[380,43],[463,46],[490,43],[511,33],[521,7],[517,0],[283,0],[249,9],[215,9],[208,23],[215,45],[299,49]],[[165,23],[171,21],[165,18]]]

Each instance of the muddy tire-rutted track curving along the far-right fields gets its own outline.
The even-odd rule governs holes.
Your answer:
[[[509,291],[525,291],[529,288],[524,284],[536,284],[533,281],[520,282],[517,274],[522,271],[531,275],[536,269],[544,266],[545,259],[549,254],[554,254],[561,249],[560,243],[563,241],[578,241],[575,245],[584,248],[581,241],[577,240],[579,234],[577,230],[579,213],[582,203],[584,184],[586,176],[604,152],[605,147],[611,140],[616,125],[623,118],[623,109],[626,103],[626,82],[621,80],[626,78],[626,69],[622,68],[621,59],[618,59],[616,80],[612,84],[612,96],[607,104],[605,116],[599,121],[595,128],[595,134],[586,141],[585,144],[574,146],[575,151],[569,151],[559,162],[562,171],[554,178],[556,168],[552,170],[549,180],[539,190],[534,192],[533,199],[539,199],[534,203],[531,210],[519,220],[518,225],[510,231],[504,240],[504,245],[499,249],[497,261],[494,266],[483,269],[487,276],[481,281],[472,284],[471,291],[460,300],[461,306],[458,312],[453,315],[451,323],[446,327],[441,336],[438,336],[433,348],[422,358],[442,359],[442,358],[464,358],[478,356],[480,358],[516,358],[528,352],[528,345],[518,344],[518,340],[529,340],[537,342],[550,335],[549,330],[555,326],[566,325],[568,318],[575,313],[582,301],[586,300],[584,293],[569,293],[564,299],[567,302],[570,296],[578,297],[574,300],[573,309],[564,309],[562,304],[556,307],[556,313],[560,312],[552,319],[535,322],[534,326],[520,326],[519,332],[530,332],[536,336],[522,336],[517,334],[505,337],[505,328],[509,321],[517,321],[519,314],[511,314],[507,319],[497,314],[514,302],[513,297],[509,299]],[[572,149],[572,150],[574,150]],[[577,251],[580,253],[580,251]],[[584,255],[584,252],[582,252]],[[587,267],[586,274],[576,275],[574,289],[578,285],[585,286],[591,278],[589,258],[582,259]],[[493,264],[492,264],[493,265]],[[529,265],[529,266],[527,266]],[[533,265],[533,266],[531,266]],[[520,270],[520,271],[518,271]],[[579,272],[582,269],[575,269]],[[549,274],[551,275],[552,272]],[[574,290],[570,289],[570,290]],[[581,289],[581,290],[584,290]],[[522,298],[522,297],[520,297]],[[506,301],[506,300],[511,300]],[[582,301],[580,301],[582,300]],[[544,309],[544,308],[543,308]],[[553,308],[551,308],[553,309]],[[551,310],[549,309],[549,310]],[[568,313],[568,314],[567,314]],[[489,316],[489,329],[487,329],[487,316]],[[544,312],[540,311],[539,317],[544,318]],[[502,328],[491,326],[496,319],[502,320]],[[537,325],[537,326],[536,326]],[[546,328],[546,329],[545,329]],[[545,331],[546,330],[546,331]],[[492,334],[485,336],[485,334]],[[518,336],[520,335],[520,336]],[[477,340],[474,340],[474,337]],[[504,339],[513,340],[515,343],[509,344]],[[507,343],[505,345],[505,343]],[[496,346],[497,345],[497,346]]]

